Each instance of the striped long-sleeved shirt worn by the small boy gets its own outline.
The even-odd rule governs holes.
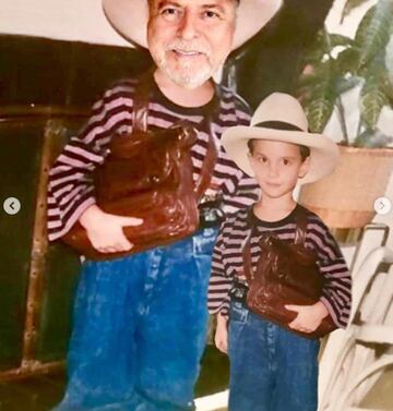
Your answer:
[[[301,207],[297,205],[297,207]],[[242,245],[251,232],[251,262],[255,268],[261,257],[261,235],[274,234],[281,240],[295,241],[296,223],[294,211],[279,221],[263,221],[255,217],[252,207],[228,216],[223,222],[213,252],[212,275],[209,286],[209,311],[211,314],[229,309],[229,291],[234,281],[247,285],[242,274]],[[317,253],[318,266],[324,277],[320,301],[326,306],[334,323],[345,327],[350,312],[352,279],[337,243],[323,221],[307,210],[307,234],[305,246]]]

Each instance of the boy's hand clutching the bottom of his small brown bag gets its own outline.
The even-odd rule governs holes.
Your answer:
[[[322,319],[329,315],[326,306],[318,301],[313,305],[285,305],[288,311],[295,311],[298,313],[296,318],[289,323],[289,327],[301,333],[314,331]]]

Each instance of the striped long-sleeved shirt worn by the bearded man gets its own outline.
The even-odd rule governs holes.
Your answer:
[[[78,136],[72,137],[57,158],[49,173],[48,237],[56,240],[66,234],[81,214],[95,204],[93,173],[105,161],[108,144],[117,133],[132,132],[133,93],[136,80],[118,82],[93,106],[93,113]],[[148,104],[148,126],[165,129],[187,120],[198,131],[192,147],[193,178],[196,181],[206,154],[209,125],[202,107],[181,107],[153,86]],[[227,157],[219,138],[225,129],[248,125],[246,105],[229,89],[222,87],[219,110],[212,119],[212,132],[218,147],[218,159],[206,195],[221,195],[225,213],[234,213],[252,204],[259,196],[255,181],[240,171]]]

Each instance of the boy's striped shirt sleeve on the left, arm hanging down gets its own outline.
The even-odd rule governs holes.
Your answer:
[[[212,273],[207,294],[207,307],[211,314],[221,312],[223,315],[228,315],[229,312],[229,291],[233,287],[234,279],[226,276],[223,262],[225,231],[227,228],[227,220],[225,220],[219,229],[213,251]]]

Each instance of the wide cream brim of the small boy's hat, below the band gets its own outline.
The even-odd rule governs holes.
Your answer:
[[[246,125],[230,128],[223,133],[222,144],[228,157],[251,177],[254,177],[254,172],[250,165],[247,145],[251,138],[286,142],[309,147],[310,169],[299,180],[299,184],[311,183],[331,174],[338,162],[337,145],[322,134]]]

